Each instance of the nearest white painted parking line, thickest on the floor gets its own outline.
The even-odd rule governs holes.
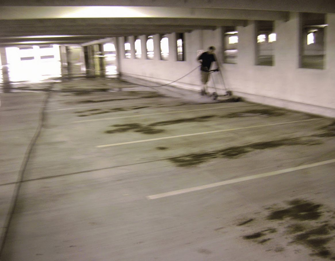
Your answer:
[[[214,187],[223,186],[223,185],[227,185],[227,184],[233,184],[233,183],[237,183],[237,182],[241,182],[241,181],[246,181],[246,180],[251,180],[251,179],[256,179],[256,178],[261,178],[261,177],[274,176],[274,175],[288,173],[288,172],[292,172],[292,171],[296,171],[296,170],[317,167],[317,166],[326,165],[326,164],[330,164],[330,163],[335,163],[335,159],[320,161],[320,162],[316,162],[316,163],[312,163],[312,164],[306,164],[306,165],[302,165],[302,166],[298,166],[298,167],[281,169],[281,170],[276,170],[276,171],[271,171],[271,172],[266,172],[266,173],[256,174],[256,175],[251,175],[251,176],[246,176],[246,177],[233,178],[233,179],[229,179],[229,180],[225,180],[225,181],[220,181],[220,182],[216,182],[216,183],[212,183],[212,184],[207,184],[207,185],[202,185],[202,186],[197,186],[197,187],[192,187],[192,188],[187,188],[187,189],[182,189],[182,190],[175,190],[175,191],[150,195],[150,196],[146,196],[146,198],[147,199],[159,199],[159,198],[184,194],[184,193],[188,193],[188,192],[192,192],[192,191],[204,190],[204,189],[214,188]]]

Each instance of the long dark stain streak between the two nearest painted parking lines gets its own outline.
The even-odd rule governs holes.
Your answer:
[[[281,146],[291,146],[291,145],[317,145],[317,144],[321,144],[321,142],[313,139],[291,138],[277,141],[252,143],[244,146],[230,147],[212,152],[187,154],[183,156],[169,158],[169,160],[179,167],[189,167],[199,165],[214,158],[235,159],[255,150],[264,150],[264,149],[277,148]]]

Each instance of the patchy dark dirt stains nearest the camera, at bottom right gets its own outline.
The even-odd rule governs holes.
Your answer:
[[[335,224],[325,219],[333,211],[321,209],[322,204],[302,199],[294,199],[285,203],[286,207],[282,207],[279,210],[273,210],[273,207],[265,208],[266,211],[270,211],[265,216],[265,219],[279,221],[275,223],[278,225],[277,228],[258,231],[243,236],[243,238],[266,245],[266,242],[271,240],[269,234],[277,232],[278,229],[278,231],[282,231],[278,236],[284,236],[285,239],[290,238],[290,241],[287,241],[287,245],[302,245],[311,250],[311,256],[335,260],[333,248]],[[327,213],[328,215],[326,215]],[[280,226],[284,224],[286,224],[284,230],[280,229]],[[284,248],[280,247],[278,251],[277,249],[271,249],[271,251],[281,252],[284,251]]]

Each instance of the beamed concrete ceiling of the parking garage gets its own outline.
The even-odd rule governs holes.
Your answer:
[[[228,6],[239,2],[213,1],[217,2],[216,6],[223,2]],[[272,10],[195,7],[200,4],[197,1],[192,2],[193,7],[179,7],[177,4],[172,7],[159,6],[162,4],[160,1],[144,1],[152,6],[141,6],[140,1],[136,3],[137,6],[75,6],[79,2],[76,0],[64,1],[63,4],[68,6],[61,6],[62,1],[57,1],[58,5],[55,1],[47,0],[21,2],[0,1],[0,46],[85,45],[118,36],[215,30],[220,26],[244,26],[248,20],[289,19],[289,10],[275,10],[273,7]],[[181,2],[185,6],[190,5],[188,0]],[[253,2],[256,4],[257,1]],[[104,1],[94,1],[94,4],[99,3]],[[211,6],[211,3],[212,0],[207,0],[206,6]]]

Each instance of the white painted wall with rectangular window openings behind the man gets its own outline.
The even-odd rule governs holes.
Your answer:
[[[335,117],[335,14],[327,14],[326,21],[326,65],[323,70],[299,68],[298,13],[292,12],[287,22],[275,21],[274,66],[255,65],[255,22],[249,21],[246,27],[239,27],[238,63],[221,64],[228,89],[249,101]],[[175,39],[174,34],[169,35],[169,41],[170,38]],[[176,61],[175,53],[170,55],[169,61],[122,58],[122,73],[154,81],[158,83],[156,86],[171,83],[189,73],[173,85],[200,90],[197,50],[214,45],[221,60],[221,39],[220,28],[186,33],[186,61]],[[155,41],[155,46],[159,46],[159,37],[155,37]],[[119,38],[119,44],[120,49],[124,49],[122,38]],[[222,81],[218,80],[216,86],[223,89]],[[213,86],[213,83],[209,85]],[[224,94],[224,90],[218,92]]]

